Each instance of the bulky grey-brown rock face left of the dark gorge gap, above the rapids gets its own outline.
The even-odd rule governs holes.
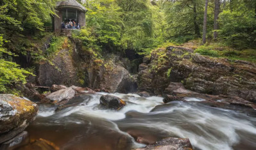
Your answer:
[[[103,61],[94,61],[87,68],[86,86],[91,89],[105,89],[110,93],[129,93],[137,90],[137,84],[130,73],[117,64],[103,64]]]

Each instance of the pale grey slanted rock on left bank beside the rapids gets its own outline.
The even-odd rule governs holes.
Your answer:
[[[49,94],[42,100],[42,103],[54,103],[56,105],[61,105],[67,103],[67,101],[71,100],[76,94],[73,88],[69,87],[66,89],[60,89],[54,93]]]

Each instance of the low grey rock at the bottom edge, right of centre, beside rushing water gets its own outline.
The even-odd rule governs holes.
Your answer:
[[[158,140],[155,144],[151,144],[142,149],[136,150],[192,150],[191,142],[189,139],[173,138]]]

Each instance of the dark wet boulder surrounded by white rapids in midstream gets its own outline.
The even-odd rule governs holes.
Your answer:
[[[109,109],[115,109],[119,110],[124,105],[126,105],[125,101],[121,100],[121,98],[118,98],[117,96],[112,96],[112,95],[103,95],[99,99],[100,104],[104,105],[105,107]]]

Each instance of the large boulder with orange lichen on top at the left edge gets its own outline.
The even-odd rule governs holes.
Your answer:
[[[37,116],[38,106],[12,94],[0,94],[0,143],[21,133]]]

